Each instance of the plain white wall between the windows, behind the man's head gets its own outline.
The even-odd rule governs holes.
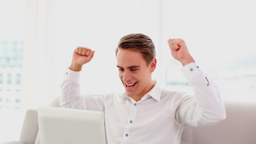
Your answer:
[[[30,66],[25,67],[25,71],[36,71],[29,74],[33,78],[26,83],[29,88],[24,93],[31,95],[27,97],[27,103],[42,105],[60,95],[63,74],[71,64],[72,53],[77,46],[96,51],[92,61],[83,67],[82,92],[85,89],[87,93],[124,91],[118,77],[115,48],[119,39],[130,33],[144,33],[153,39],[157,58],[159,57],[158,67],[161,69],[160,2],[30,1],[33,3],[28,5],[30,16],[35,17],[28,22],[30,25],[36,24],[36,27],[28,27],[31,35],[28,35],[26,49],[38,55],[31,55],[28,53],[30,50],[27,50],[27,55],[30,56],[27,56],[24,65]],[[37,31],[33,31],[34,28]],[[161,81],[164,79],[159,79],[163,76],[162,73],[165,72],[156,70],[154,79],[164,86],[165,81]],[[36,97],[31,98],[34,95]]]

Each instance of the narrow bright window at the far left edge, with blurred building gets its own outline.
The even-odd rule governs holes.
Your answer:
[[[0,1],[0,143],[19,140],[23,121],[21,71],[25,11],[25,0]]]

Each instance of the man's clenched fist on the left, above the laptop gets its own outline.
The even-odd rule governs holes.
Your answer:
[[[73,71],[82,70],[82,66],[90,62],[92,57],[94,57],[94,52],[86,47],[77,47],[73,52],[72,63],[69,69]]]

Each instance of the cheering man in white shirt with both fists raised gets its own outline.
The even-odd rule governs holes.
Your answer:
[[[79,97],[79,73],[95,51],[77,47],[61,87],[61,106],[105,112],[108,143],[181,143],[184,125],[213,124],[225,119],[225,107],[212,81],[195,65],[182,39],[169,39],[172,56],[195,96],[166,91],[152,80],[156,68],[153,41],[144,34],[120,39],[115,51],[124,94]]]

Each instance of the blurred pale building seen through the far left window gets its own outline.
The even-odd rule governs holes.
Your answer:
[[[0,41],[0,109],[21,108],[23,41]]]

